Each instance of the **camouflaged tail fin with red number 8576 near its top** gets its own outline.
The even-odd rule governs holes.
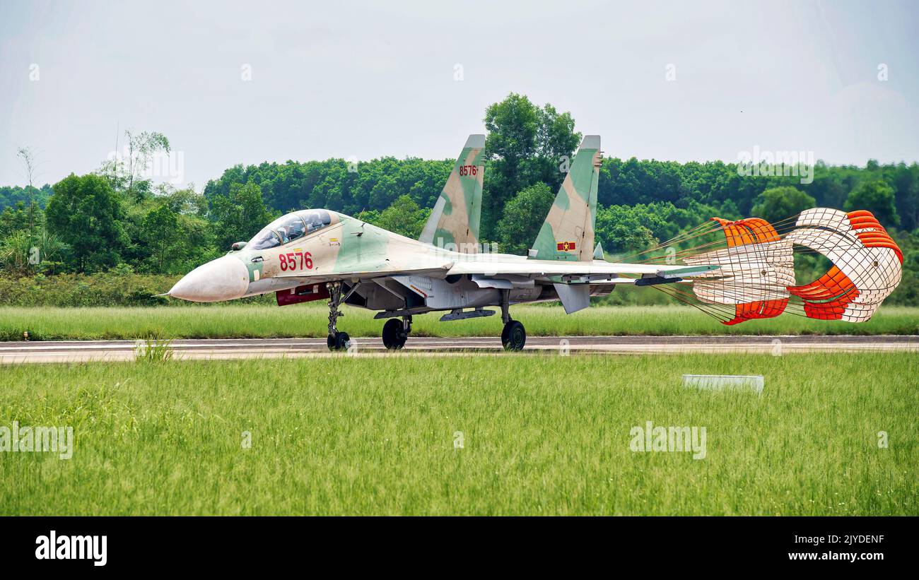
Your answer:
[[[470,135],[466,139],[419,241],[464,253],[478,251],[484,148],[484,135]]]

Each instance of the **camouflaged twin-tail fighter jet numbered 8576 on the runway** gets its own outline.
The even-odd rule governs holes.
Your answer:
[[[504,321],[505,349],[519,351],[527,332],[511,318],[513,305],[557,300],[566,313],[615,284],[673,284],[718,265],[611,263],[594,246],[600,138],[584,137],[549,215],[527,256],[482,251],[484,135],[471,135],[454,163],[425,229],[411,240],[329,209],[303,209],[268,224],[252,240],[205,263],[166,293],[217,302],[274,292],[278,306],[328,299],[329,349],[345,350],[338,329],[342,305],[379,311],[386,348],[403,348],[412,319],[445,312],[440,320],[495,314]]]

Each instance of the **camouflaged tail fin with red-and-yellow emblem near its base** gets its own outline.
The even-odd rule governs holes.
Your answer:
[[[573,262],[594,260],[600,160],[599,135],[584,136],[549,215],[533,242],[535,252],[530,252],[531,258]]]

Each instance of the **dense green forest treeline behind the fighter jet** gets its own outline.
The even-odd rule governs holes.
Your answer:
[[[526,253],[581,134],[569,113],[524,95],[489,106],[484,122],[482,239],[500,251]],[[185,273],[279,214],[305,207],[417,237],[453,165],[392,157],[236,165],[198,193],[141,178],[154,154],[169,151],[164,135],[127,137],[138,152],[129,162],[105,162],[52,186],[0,187],[6,277]],[[604,159],[597,240],[615,257],[716,216],[775,221],[811,206],[868,209],[904,252],[903,282],[889,300],[919,305],[919,164],[817,162],[812,180],[803,180],[810,183],[783,174],[783,167],[762,169],[744,174],[735,163]]]

